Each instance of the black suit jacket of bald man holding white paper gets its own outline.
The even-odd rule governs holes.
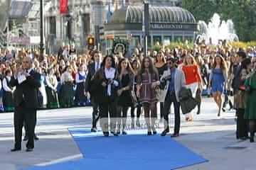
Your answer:
[[[41,75],[33,70],[26,80],[18,84],[18,79],[11,77],[10,85],[16,86],[14,91],[14,106],[24,103],[25,108],[38,108],[38,88],[41,86]]]

